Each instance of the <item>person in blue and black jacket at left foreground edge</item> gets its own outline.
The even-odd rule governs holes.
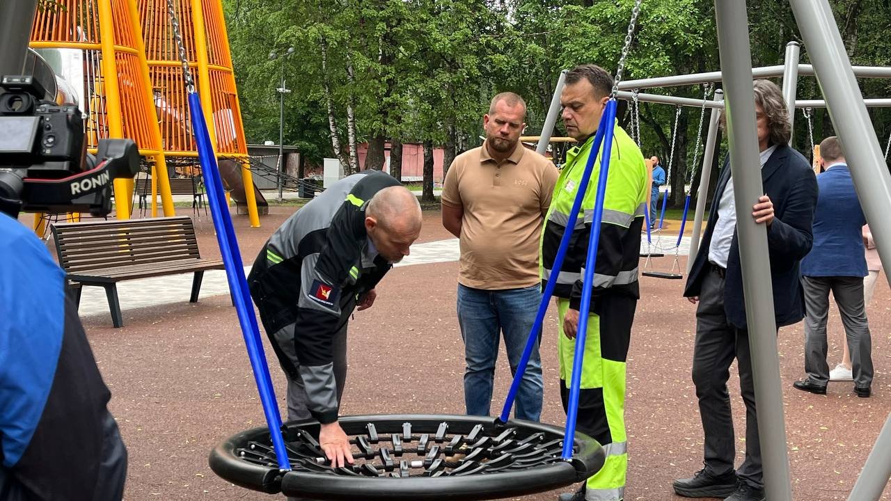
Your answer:
[[[0,501],[119,500],[127,448],[65,273],[0,213]]]

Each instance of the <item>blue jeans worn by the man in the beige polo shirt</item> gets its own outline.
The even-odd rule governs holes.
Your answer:
[[[499,333],[504,335],[511,374],[516,374],[535,313],[542,300],[538,285],[521,289],[485,291],[458,284],[458,324],[464,340],[464,404],[468,415],[489,415]],[[514,417],[538,421],[542,414],[544,381],[538,355],[541,329],[535,349],[517,391]]]

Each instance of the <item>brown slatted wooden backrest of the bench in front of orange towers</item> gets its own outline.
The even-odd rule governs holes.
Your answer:
[[[52,229],[59,264],[72,274],[200,259],[195,227],[187,216],[59,223]]]

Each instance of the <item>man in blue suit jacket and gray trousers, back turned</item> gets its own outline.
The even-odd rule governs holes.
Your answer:
[[[863,305],[863,277],[868,274],[862,238],[866,217],[836,136],[823,139],[820,155],[825,172],[817,176],[820,197],[813,217],[813,250],[801,261],[807,310],[807,378],[795,382],[795,387],[826,394],[826,383],[830,379],[830,366],[826,363],[826,318],[831,291],[845,325],[854,369],[854,393],[865,398],[870,396],[872,384],[870,326]]]

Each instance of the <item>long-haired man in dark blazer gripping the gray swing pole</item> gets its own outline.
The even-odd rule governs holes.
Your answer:
[[[754,205],[752,217],[767,226],[773,311],[781,327],[805,316],[798,264],[813,243],[817,185],[808,161],[789,148],[789,117],[780,88],[767,80],[756,80],[754,87],[765,195]],[[690,479],[674,480],[674,492],[684,497],[726,497],[728,501],[763,500],[761,445],[729,159],[718,177],[707,231],[683,295],[694,304],[699,302],[693,382],[705,431],[705,468]],[[746,404],[746,457],[736,471],[727,390],[728,369],[734,358],[738,360]]]

